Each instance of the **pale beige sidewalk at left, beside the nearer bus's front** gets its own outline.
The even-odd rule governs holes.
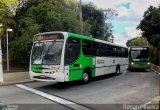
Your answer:
[[[9,72],[4,73],[3,77],[4,81],[0,82],[0,86],[31,81],[29,72]]]

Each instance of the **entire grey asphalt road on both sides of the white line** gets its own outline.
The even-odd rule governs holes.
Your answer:
[[[159,95],[160,76],[152,71],[126,71],[119,76],[106,75],[94,78],[90,83],[82,85],[79,81],[69,83],[32,82],[23,84],[34,90],[47,93],[86,108],[104,109],[117,104],[144,104]],[[8,90],[8,97],[6,94]],[[15,96],[15,93],[17,97]],[[13,96],[12,96],[13,95]],[[22,101],[17,99],[23,98]],[[15,85],[0,88],[0,101],[3,103],[21,104],[54,104],[59,109],[70,109],[68,106],[56,104],[57,101],[42,97],[34,92],[26,91]]]

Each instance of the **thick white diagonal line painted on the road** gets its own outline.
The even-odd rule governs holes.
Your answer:
[[[52,100],[54,102],[57,102],[59,104],[65,105],[65,106],[67,106],[69,108],[75,109],[75,110],[92,110],[91,108],[82,106],[80,104],[68,101],[66,99],[63,99],[63,98],[60,98],[60,97],[57,97],[57,96],[54,96],[54,95],[51,95],[51,94],[44,93],[42,91],[38,91],[36,89],[24,86],[22,84],[17,84],[16,86],[19,87],[19,88],[21,88],[21,89],[24,89],[24,90],[27,90],[29,92],[32,92],[34,94],[37,94],[39,96],[42,96],[44,98],[47,98],[49,100]]]

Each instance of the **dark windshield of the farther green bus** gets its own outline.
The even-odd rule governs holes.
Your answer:
[[[149,50],[131,50],[131,58],[133,61],[148,61]]]

